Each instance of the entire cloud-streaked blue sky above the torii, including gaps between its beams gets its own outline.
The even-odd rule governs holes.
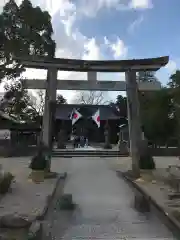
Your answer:
[[[19,2],[20,3],[20,0]],[[52,16],[57,57],[88,60],[170,56],[156,76],[166,84],[180,67],[179,0],[32,0]],[[46,72],[28,70],[29,78]],[[123,74],[99,74],[123,80]],[[59,79],[86,79],[86,74],[59,72]],[[75,93],[63,93],[72,99]]]

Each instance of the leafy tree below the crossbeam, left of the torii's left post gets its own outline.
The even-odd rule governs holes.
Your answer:
[[[5,98],[8,104],[3,104],[3,111],[9,115],[25,121],[40,121],[42,118],[45,105],[44,91],[38,90],[35,95],[32,95],[21,81],[17,80],[5,85]],[[65,104],[67,100],[58,94],[57,103]]]

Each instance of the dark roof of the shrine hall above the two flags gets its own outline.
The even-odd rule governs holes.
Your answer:
[[[101,120],[117,120],[121,117],[120,112],[110,105],[58,104],[55,118],[59,120],[70,120],[73,109],[78,110],[86,118],[90,118],[98,109]]]

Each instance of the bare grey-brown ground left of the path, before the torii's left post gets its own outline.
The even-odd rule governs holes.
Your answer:
[[[55,179],[46,179],[40,184],[28,179],[30,170],[27,159],[0,159],[6,171],[15,175],[15,182],[9,193],[0,201],[0,219],[3,216],[19,216],[27,221],[42,219],[47,212],[49,203],[62,179],[58,174]],[[62,179],[63,185],[64,179]]]

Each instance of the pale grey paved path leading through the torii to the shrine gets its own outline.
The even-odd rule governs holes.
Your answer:
[[[48,239],[174,239],[156,216],[140,214],[133,208],[132,189],[116,176],[106,160],[65,161],[69,174],[65,193],[71,193],[79,207],[73,216],[52,211]]]

